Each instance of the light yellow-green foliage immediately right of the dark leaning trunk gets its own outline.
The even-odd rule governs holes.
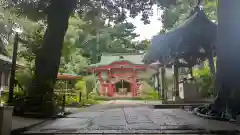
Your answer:
[[[82,48],[77,45],[79,36],[86,33],[83,26],[86,22],[77,16],[69,20],[69,28],[65,35],[60,62],[60,73],[80,74],[86,70],[90,61],[82,55]]]

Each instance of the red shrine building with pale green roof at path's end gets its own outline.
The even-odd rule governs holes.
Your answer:
[[[110,97],[135,97],[141,94],[141,78],[147,70],[143,54],[102,54],[101,61],[90,66],[97,76],[99,93]]]

